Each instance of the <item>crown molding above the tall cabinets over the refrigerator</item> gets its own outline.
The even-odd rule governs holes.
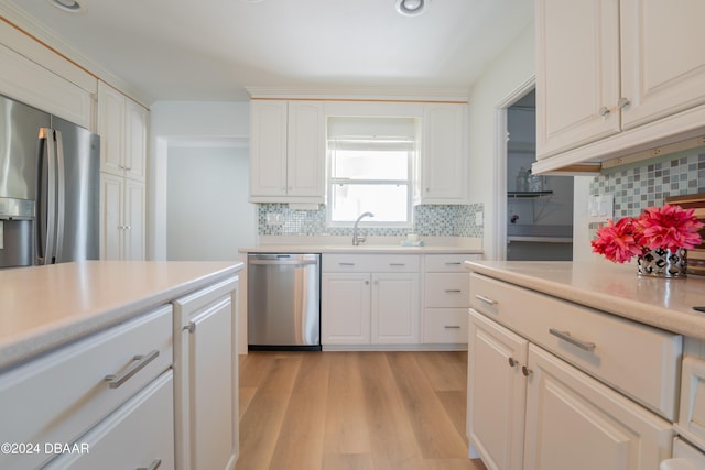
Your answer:
[[[0,17],[24,33],[28,37],[61,54],[67,61],[83,68],[96,78],[107,83],[124,95],[148,107],[153,99],[141,90],[132,87],[90,57],[84,55],[75,45],[54,33],[44,23],[28,14],[24,10],[10,2],[0,2]]]

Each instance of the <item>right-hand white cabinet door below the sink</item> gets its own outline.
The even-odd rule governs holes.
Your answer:
[[[372,343],[417,343],[419,311],[419,274],[372,274]]]

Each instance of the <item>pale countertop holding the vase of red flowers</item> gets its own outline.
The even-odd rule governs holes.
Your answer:
[[[469,270],[685,336],[705,339],[705,277],[641,277],[633,265],[467,261]]]

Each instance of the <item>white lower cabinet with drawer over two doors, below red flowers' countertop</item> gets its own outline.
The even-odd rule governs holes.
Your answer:
[[[471,456],[492,470],[651,470],[671,457],[680,336],[475,273],[470,294]]]

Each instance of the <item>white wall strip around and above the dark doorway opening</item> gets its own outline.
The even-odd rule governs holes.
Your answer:
[[[469,95],[470,108],[470,201],[482,203],[485,227],[482,248],[486,259],[499,251],[497,226],[497,185],[506,178],[496,166],[496,117],[499,103],[534,76],[533,23],[518,36],[475,83]]]

